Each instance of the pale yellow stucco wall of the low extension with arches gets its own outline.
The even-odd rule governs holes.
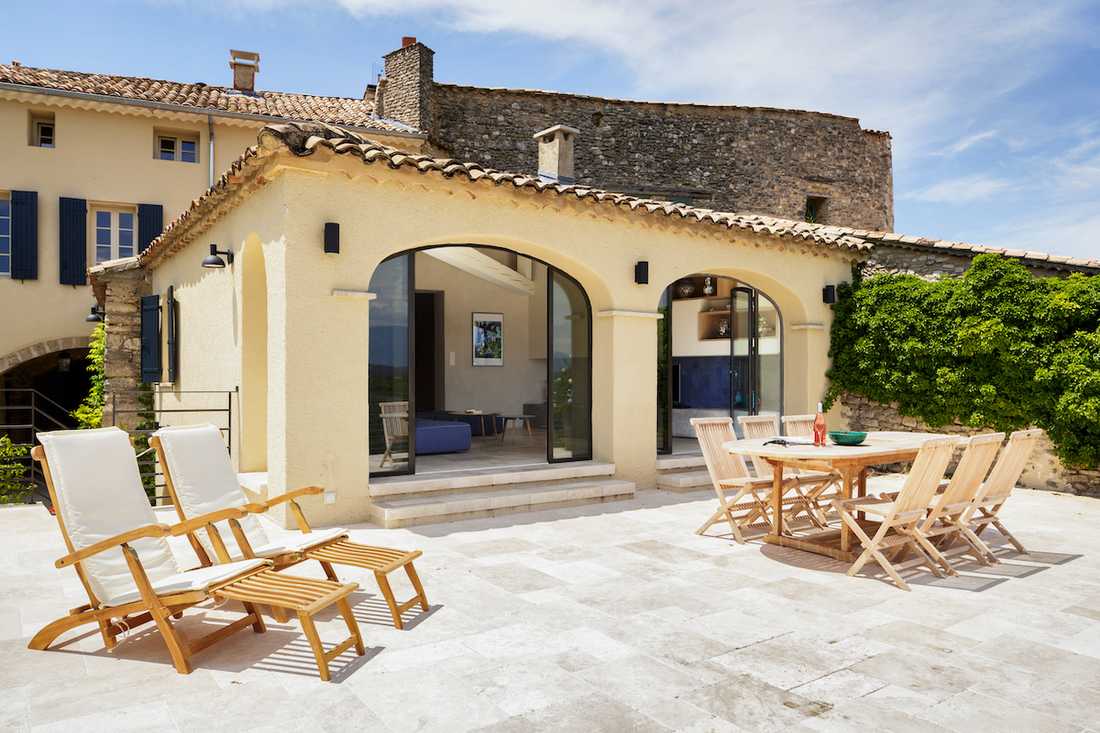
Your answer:
[[[369,300],[333,292],[365,294],[374,269],[396,252],[492,244],[544,260],[580,281],[594,316],[595,458],[614,461],[619,477],[641,488],[652,486],[656,474],[653,315],[664,286],[678,277],[708,272],[765,291],[783,315],[784,411],[807,411],[824,391],[831,311],[821,292],[849,277],[848,255],[752,232],[683,226],[663,215],[620,214],[552,195],[365,166],[350,157],[283,164],[268,172],[258,194],[158,266],[153,283],[163,291],[168,280],[178,287],[189,277],[180,294],[182,328],[202,322],[223,331],[186,358],[179,386],[239,373],[241,352],[227,335],[240,327],[242,304],[232,300],[240,298],[241,273],[238,265],[213,272],[198,263],[208,241],[233,247],[238,258],[250,237],[263,243],[268,490],[326,485],[330,503],[318,497],[310,507],[321,524],[364,519],[369,502]],[[341,225],[339,255],[322,252],[326,221]],[[649,285],[634,283],[638,260],[650,263]],[[183,340],[182,355],[196,348]],[[241,375],[244,384],[250,379]]]

